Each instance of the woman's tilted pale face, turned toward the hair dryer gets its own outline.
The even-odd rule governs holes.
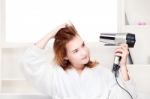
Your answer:
[[[83,68],[84,64],[90,60],[89,49],[84,44],[84,41],[75,36],[66,44],[67,56],[65,59],[69,60],[73,67]]]

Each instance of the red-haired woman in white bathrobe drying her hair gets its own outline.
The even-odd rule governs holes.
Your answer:
[[[44,51],[51,39],[55,64],[47,61]],[[118,46],[115,55],[121,56],[118,81],[135,99],[126,66],[127,44]],[[28,48],[21,63],[26,78],[52,99],[131,99],[110,70],[90,60],[89,49],[71,23],[56,27]]]

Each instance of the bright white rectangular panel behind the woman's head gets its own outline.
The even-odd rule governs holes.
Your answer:
[[[5,0],[6,41],[35,42],[68,19],[86,41],[117,32],[117,0]]]

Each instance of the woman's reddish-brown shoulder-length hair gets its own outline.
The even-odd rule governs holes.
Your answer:
[[[71,67],[69,60],[66,60],[67,55],[66,44],[71,41],[75,36],[79,36],[74,26],[66,25],[64,28],[61,28],[55,35],[55,41],[53,45],[54,49],[54,62],[60,65],[64,70]],[[89,61],[85,66],[95,67],[98,62]]]

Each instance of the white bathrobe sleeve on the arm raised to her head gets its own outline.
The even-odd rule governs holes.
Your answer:
[[[45,54],[44,49],[33,45],[25,51],[19,62],[25,78],[36,89],[51,96],[53,75],[56,69],[50,66]]]

